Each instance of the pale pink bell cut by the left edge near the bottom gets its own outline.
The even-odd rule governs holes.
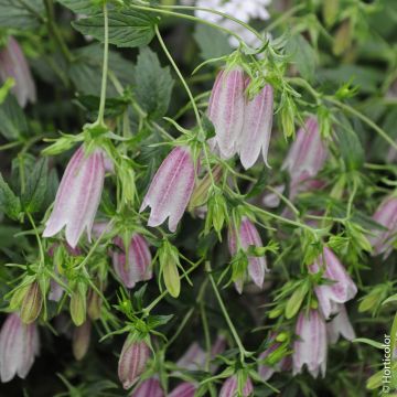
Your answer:
[[[0,379],[15,375],[24,379],[39,355],[39,331],[35,323],[23,324],[15,313],[9,314],[0,331]]]

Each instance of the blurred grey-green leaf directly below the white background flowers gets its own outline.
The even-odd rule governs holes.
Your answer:
[[[216,58],[232,52],[227,36],[215,28],[197,24],[194,39],[200,47],[200,56],[203,60]]]

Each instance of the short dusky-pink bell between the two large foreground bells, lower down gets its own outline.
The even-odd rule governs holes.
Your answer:
[[[112,251],[112,265],[117,276],[127,288],[133,288],[137,282],[152,278],[152,257],[144,237],[133,234],[128,253],[120,237],[115,238],[115,244],[120,250]]]

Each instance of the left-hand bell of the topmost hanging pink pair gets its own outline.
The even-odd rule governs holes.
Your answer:
[[[237,153],[245,112],[245,75],[240,68],[221,71],[211,92],[208,118],[215,127],[214,142],[225,159]]]

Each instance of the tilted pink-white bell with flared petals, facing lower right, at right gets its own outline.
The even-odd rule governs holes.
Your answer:
[[[355,297],[357,287],[335,254],[328,247],[324,247],[323,255],[310,266],[309,271],[316,273],[322,269],[324,269],[323,278],[333,283],[318,286],[314,291],[324,318],[329,319],[331,314],[337,313],[337,303],[345,303]]]

